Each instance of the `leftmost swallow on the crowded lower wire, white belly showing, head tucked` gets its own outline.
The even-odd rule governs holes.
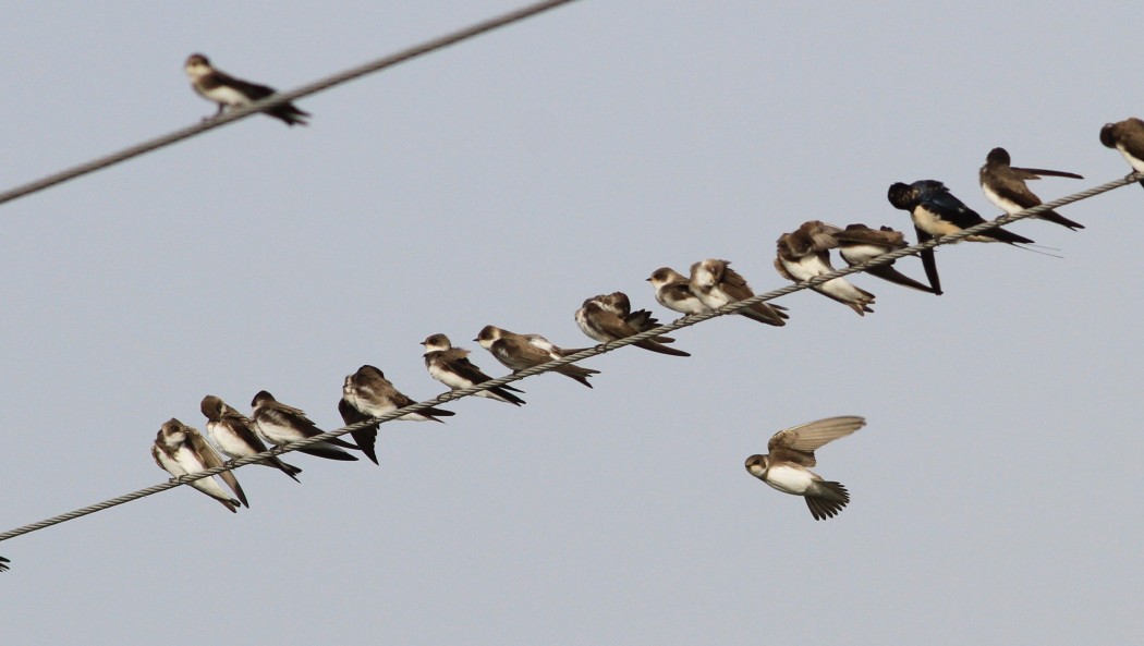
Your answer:
[[[202,434],[174,417],[164,422],[159,432],[156,433],[154,445],[151,447],[151,456],[154,457],[154,463],[160,469],[175,478],[222,466],[222,458],[210,448],[210,445],[202,438]],[[235,492],[235,495],[238,496],[237,500],[227,494],[214,478],[201,478],[189,484],[221,502],[231,512],[237,512],[238,508],[244,504],[251,507],[246,502],[246,494],[243,493],[243,487],[238,485],[235,473],[223,471],[219,473],[219,477]]]

